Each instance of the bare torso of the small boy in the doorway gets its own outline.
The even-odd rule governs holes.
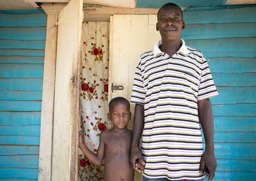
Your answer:
[[[130,164],[132,131],[116,132],[113,129],[103,134],[105,143],[104,181],[133,181],[134,170]]]

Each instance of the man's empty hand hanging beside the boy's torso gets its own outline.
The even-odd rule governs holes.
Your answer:
[[[138,147],[131,149],[130,162],[133,165],[133,169],[139,173],[144,172],[145,161],[142,158],[141,152]],[[141,165],[140,165],[141,164]],[[141,170],[143,168],[143,170]]]

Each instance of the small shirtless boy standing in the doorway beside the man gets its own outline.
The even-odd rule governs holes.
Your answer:
[[[104,181],[132,181],[134,170],[129,162],[132,131],[127,128],[131,118],[129,101],[123,97],[112,99],[109,102],[108,118],[113,128],[101,133],[97,154],[84,144],[82,132],[79,132],[79,147],[97,165],[104,159]]]

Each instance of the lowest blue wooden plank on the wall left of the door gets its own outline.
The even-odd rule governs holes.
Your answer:
[[[0,169],[0,178],[37,179],[38,169]]]

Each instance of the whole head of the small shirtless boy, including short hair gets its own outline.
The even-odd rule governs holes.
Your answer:
[[[116,97],[109,102],[108,106],[108,118],[114,127],[119,129],[126,127],[131,118],[129,101],[123,97]]]

